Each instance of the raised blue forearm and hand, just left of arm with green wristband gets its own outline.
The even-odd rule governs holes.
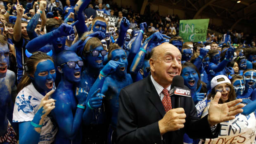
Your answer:
[[[119,47],[123,46],[124,38],[126,36],[126,31],[128,30],[130,26],[130,22],[126,17],[123,17],[121,24],[120,24],[120,33],[119,37],[116,40],[116,43],[119,45]]]

